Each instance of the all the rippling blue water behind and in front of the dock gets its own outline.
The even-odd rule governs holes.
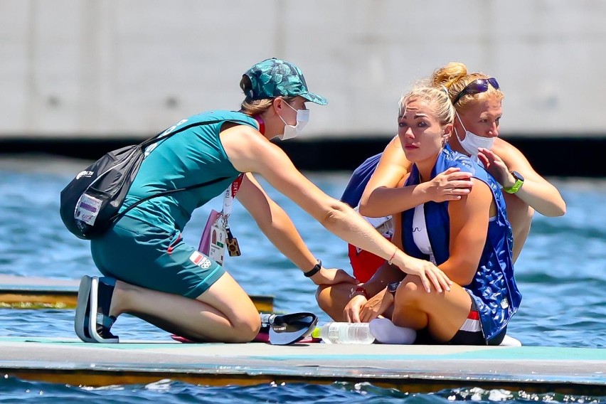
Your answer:
[[[53,156],[0,156],[0,273],[77,279],[98,275],[88,243],[63,228],[58,216],[58,195],[86,161]],[[309,179],[331,196],[339,197],[349,173],[308,173]],[[533,346],[606,347],[606,179],[552,179],[568,203],[563,218],[537,215],[531,235],[516,265],[523,294],[522,307],[509,325],[509,335]],[[265,184],[265,183],[262,183]],[[349,268],[346,243],[328,233],[293,203],[268,193],[289,213],[305,242],[326,266]],[[211,208],[198,209],[184,231],[184,238],[198,243]],[[250,294],[275,296],[280,312],[312,311],[320,321],[314,301],[315,287],[257,230],[252,218],[236,203],[230,219],[238,237],[241,257],[228,257],[225,267]],[[276,282],[279,280],[279,282]],[[73,310],[0,309],[1,336],[75,336]],[[113,331],[124,339],[168,341],[165,331],[134,317],[122,316]],[[2,375],[0,375],[2,376]],[[431,394],[410,394],[367,383],[208,387],[178,381],[149,385],[80,388],[0,378],[0,403],[33,403],[44,400],[70,403],[441,403],[474,400],[488,403],[549,401],[606,403],[606,395],[579,397],[554,392],[532,395],[462,386]]]

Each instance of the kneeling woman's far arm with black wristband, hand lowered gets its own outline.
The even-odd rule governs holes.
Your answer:
[[[263,234],[282,254],[303,272],[312,270],[317,264],[316,257],[309,251],[284,209],[280,208],[265,193],[261,184],[252,174],[245,174],[236,198],[250,212]],[[314,277],[317,285],[334,285],[339,282],[356,283],[356,280],[344,270],[326,270],[324,268],[320,272],[321,275]]]

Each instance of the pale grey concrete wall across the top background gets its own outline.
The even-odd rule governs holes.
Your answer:
[[[0,136],[142,136],[237,109],[253,63],[299,65],[306,137],[389,136],[451,61],[498,78],[504,136],[606,136],[602,0],[0,0]]]

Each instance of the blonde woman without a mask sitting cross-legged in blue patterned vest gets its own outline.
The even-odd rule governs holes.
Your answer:
[[[406,331],[413,329],[426,332],[424,343],[499,345],[521,302],[503,193],[481,164],[450,148],[456,114],[445,88],[421,85],[400,100],[398,137],[412,164],[404,186],[456,170],[472,187],[456,200],[425,201],[393,215],[393,243],[434,262],[454,281],[450,291],[427,294],[388,262],[361,286],[320,286],[317,293],[333,319],[371,321],[383,343],[410,343]],[[395,326],[377,319],[383,315]]]

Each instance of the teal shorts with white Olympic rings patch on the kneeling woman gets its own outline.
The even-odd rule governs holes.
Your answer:
[[[91,240],[92,260],[105,276],[132,285],[196,299],[225,270],[167,231],[124,216],[102,238]]]

